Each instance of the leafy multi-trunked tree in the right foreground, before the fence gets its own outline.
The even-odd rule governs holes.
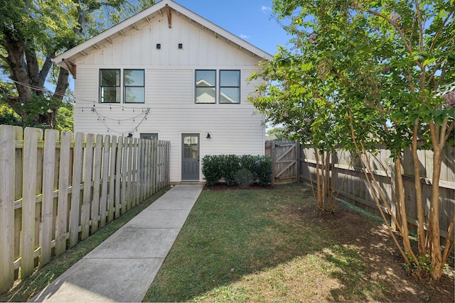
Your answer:
[[[378,208],[383,203],[392,214],[402,244],[397,241],[392,226],[387,226],[408,267],[419,274],[429,273],[434,279],[441,277],[446,258],[454,247],[448,236],[441,250],[439,238],[441,151],[455,127],[454,8],[453,0],[274,0],[277,18],[290,21],[286,28],[295,37],[294,50],[279,50],[258,75],[272,75],[270,80],[281,81],[284,86],[264,84],[259,87],[257,97],[252,98],[259,105],[272,104],[264,100],[273,98],[277,89],[284,89],[278,94],[284,96],[278,99],[280,102],[298,100],[288,109],[289,116],[293,113],[289,124],[314,119],[311,126],[304,128],[316,132],[311,133],[313,143],[317,143],[314,137],[317,128],[327,125],[317,121],[326,121],[324,117],[328,117],[331,127],[337,130],[333,132],[337,140],[343,141],[343,147],[355,150],[360,159],[368,157],[367,152],[374,151],[378,143],[389,148],[395,164],[397,216],[390,210],[378,182],[373,179],[369,184],[380,195],[376,199]],[[277,117],[273,106],[262,109],[272,119]],[[301,110],[296,111],[297,119],[296,109]],[[323,127],[318,136],[323,140],[324,134],[330,137],[330,133]],[[417,149],[422,148],[418,141],[421,138],[434,152],[427,221],[417,158]],[[407,230],[401,172],[402,152],[407,147],[412,149],[414,157],[417,252],[412,249]],[[369,179],[366,173],[371,170],[369,162],[363,161],[362,165],[365,178]],[[383,217],[386,220],[384,214]],[[449,235],[454,222],[455,217],[451,219]],[[428,224],[427,230],[424,224]]]

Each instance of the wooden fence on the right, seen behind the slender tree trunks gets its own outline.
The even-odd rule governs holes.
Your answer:
[[[421,173],[422,199],[424,202],[424,215],[427,217],[432,194],[432,151],[419,150],[419,167]],[[378,154],[368,155],[373,175],[380,182],[380,188],[395,210],[395,197],[392,186],[394,183],[395,167],[390,158],[390,151],[379,149]],[[365,158],[365,155],[363,155]],[[412,231],[417,228],[417,209],[415,206],[414,164],[410,150],[404,153],[402,172],[405,187],[407,221]],[[301,175],[304,182],[316,183],[316,158],[312,148],[301,149]],[[439,224],[441,236],[447,236],[447,228],[455,214],[455,147],[446,146],[441,165],[441,180],[439,182]],[[354,153],[338,150],[335,163],[331,171],[333,187],[339,189],[339,198],[361,206],[363,209],[378,214],[378,207],[373,197],[379,197],[375,189],[368,187],[365,175],[360,166],[360,161]],[[386,209],[384,209],[386,211]],[[386,211],[387,212],[387,211]],[[453,238],[454,235],[452,234]]]

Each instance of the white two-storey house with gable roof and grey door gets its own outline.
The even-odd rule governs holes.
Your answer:
[[[75,78],[75,131],[171,142],[171,182],[203,182],[204,155],[264,155],[248,82],[271,55],[171,0],[53,60]]]

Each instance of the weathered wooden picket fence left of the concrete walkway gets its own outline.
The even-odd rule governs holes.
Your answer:
[[[0,126],[0,292],[168,181],[168,141]]]

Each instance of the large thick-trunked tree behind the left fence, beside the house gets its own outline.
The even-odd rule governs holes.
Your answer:
[[[24,125],[55,128],[68,88],[60,68],[55,89],[45,88],[51,59],[114,23],[154,4],[153,0],[0,0],[0,68],[16,86],[9,105]]]

